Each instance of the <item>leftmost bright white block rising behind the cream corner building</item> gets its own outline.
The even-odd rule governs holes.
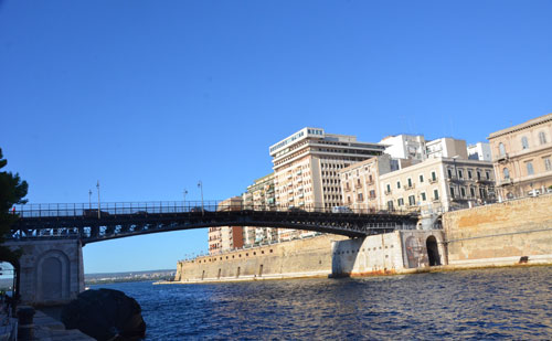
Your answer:
[[[413,163],[427,159],[423,135],[388,136],[380,143],[385,146],[385,153],[394,159],[410,159],[414,161]]]

